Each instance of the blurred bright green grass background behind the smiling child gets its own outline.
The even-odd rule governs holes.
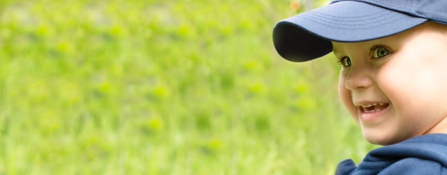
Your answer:
[[[301,1],[310,9],[326,1]],[[290,0],[1,0],[0,174],[332,174],[374,145]]]

